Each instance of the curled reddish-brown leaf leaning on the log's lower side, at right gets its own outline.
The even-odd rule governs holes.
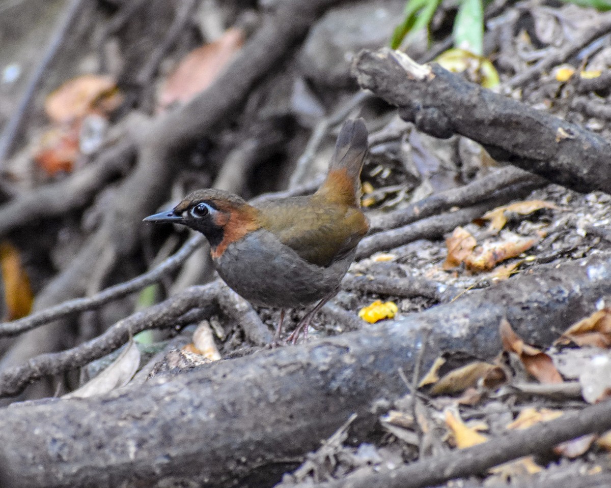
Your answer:
[[[500,322],[499,333],[503,349],[509,353],[518,354],[526,370],[539,382],[562,383],[564,381],[552,358],[543,351],[524,343],[505,318]]]

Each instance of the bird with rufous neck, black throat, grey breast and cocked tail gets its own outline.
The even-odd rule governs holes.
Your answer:
[[[360,209],[360,172],[368,150],[364,120],[346,120],[326,178],[312,195],[251,205],[214,188],[189,193],[169,212],[145,222],[183,224],[201,232],[219,276],[254,305],[286,309],[316,305],[287,342],[297,342],[313,316],[340,288],[369,222]]]

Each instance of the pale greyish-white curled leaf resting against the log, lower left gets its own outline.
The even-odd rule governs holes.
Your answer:
[[[98,376],[86,382],[78,390],[64,395],[62,398],[87,398],[108,393],[115,388],[125,386],[136,374],[140,365],[140,350],[136,342],[130,340],[126,348],[119,354],[108,368]]]

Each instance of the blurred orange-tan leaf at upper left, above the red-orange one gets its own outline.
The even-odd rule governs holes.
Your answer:
[[[116,94],[117,84],[111,76],[84,74],[53,91],[45,100],[45,112],[56,123],[70,123],[91,113],[98,101]],[[106,102],[104,102],[106,103]],[[117,101],[106,110],[112,109]]]

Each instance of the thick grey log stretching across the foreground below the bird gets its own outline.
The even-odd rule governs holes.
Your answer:
[[[269,475],[277,463],[318,447],[351,414],[367,417],[373,401],[403,395],[397,371],[409,378],[422,340],[424,367],[450,348],[494,356],[503,317],[527,342],[549,344],[610,292],[611,258],[591,257],[402,320],[161,376],[129,392],[15,404],[0,416],[0,459],[23,487],[161,486],[169,479],[227,486],[255,470]],[[579,435],[570,430],[577,425],[577,432],[610,428],[605,408],[588,411],[598,412],[595,424],[583,412],[574,423],[561,419],[566,427],[554,442]]]

